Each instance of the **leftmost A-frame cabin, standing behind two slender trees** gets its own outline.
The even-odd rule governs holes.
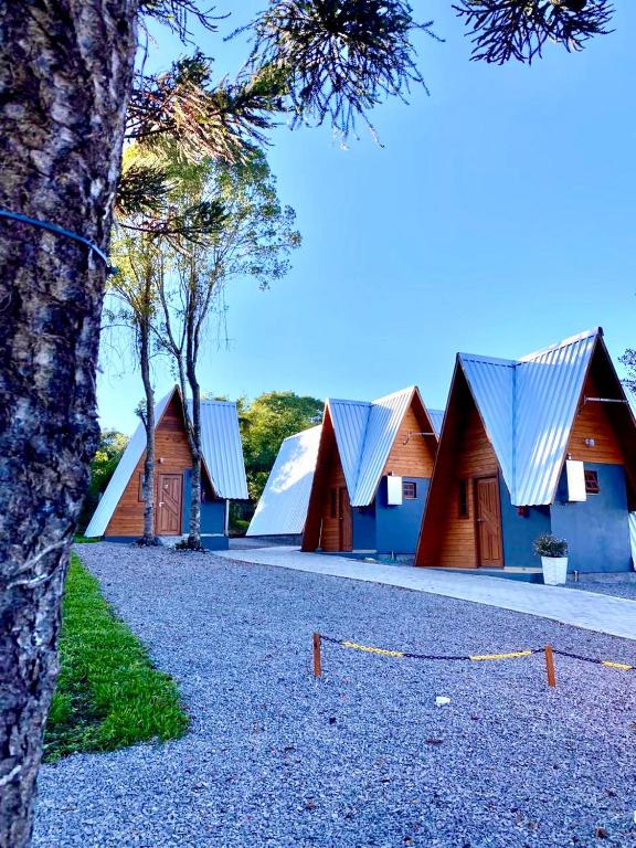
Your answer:
[[[201,433],[201,533],[205,547],[223,549],[227,547],[229,500],[247,498],[235,404],[203,401]],[[178,386],[155,407],[155,533],[160,538],[178,538],[188,532],[192,469],[183,400]],[[87,537],[130,541],[142,534],[145,459],[146,431],[140,424],[86,528]]]

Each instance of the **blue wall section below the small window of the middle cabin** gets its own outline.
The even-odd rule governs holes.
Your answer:
[[[403,477],[416,485],[417,497],[403,500],[402,506],[386,504],[386,478],[383,477],[375,496],[375,550],[378,553],[415,553],[422,516],[428,494],[428,479]]]

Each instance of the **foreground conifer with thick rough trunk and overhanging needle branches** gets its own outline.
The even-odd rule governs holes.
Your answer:
[[[476,57],[526,61],[537,38],[571,49],[604,32],[611,7],[465,0],[457,9],[485,39]],[[347,132],[351,117],[384,95],[404,96],[416,76],[411,36],[422,28],[399,0],[273,1],[252,28],[245,72],[216,86],[201,62],[136,73],[140,15],[183,40],[189,20],[209,33],[216,25],[197,0],[0,4],[0,844],[12,848],[31,835],[68,547],[98,442],[114,201],[118,187],[123,195],[145,189],[139,178],[119,183],[126,126],[131,138],[178,137],[194,151],[241,158],[277,112]]]

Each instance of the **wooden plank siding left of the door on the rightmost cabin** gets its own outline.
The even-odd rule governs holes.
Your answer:
[[[453,384],[415,564],[475,569],[475,478],[497,475],[499,465],[466,378],[457,367]],[[466,480],[466,517],[459,516],[462,479]]]

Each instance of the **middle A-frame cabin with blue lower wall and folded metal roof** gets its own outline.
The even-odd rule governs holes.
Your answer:
[[[439,420],[416,386],[371,403],[327,400],[303,550],[413,553]]]

